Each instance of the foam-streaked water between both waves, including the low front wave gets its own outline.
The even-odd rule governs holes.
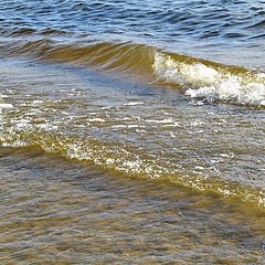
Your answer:
[[[84,70],[10,61],[1,68],[3,147],[38,147],[264,208],[263,109],[191,102]]]

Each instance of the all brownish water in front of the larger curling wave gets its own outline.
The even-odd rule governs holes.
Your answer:
[[[2,264],[264,263],[263,109],[1,71]]]

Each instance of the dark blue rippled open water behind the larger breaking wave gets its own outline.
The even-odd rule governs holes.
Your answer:
[[[264,66],[264,1],[2,1],[1,35],[132,41]]]

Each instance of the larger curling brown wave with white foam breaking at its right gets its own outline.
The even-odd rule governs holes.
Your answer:
[[[152,84],[173,86],[189,97],[209,103],[224,100],[265,106],[265,72],[261,68],[250,71],[167,53],[145,44],[98,42],[87,38],[78,41],[17,39],[0,46],[6,56],[28,55],[38,60],[115,71]]]

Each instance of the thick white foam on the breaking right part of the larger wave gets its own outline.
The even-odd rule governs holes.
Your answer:
[[[186,95],[190,97],[265,106],[265,73],[232,74],[221,66],[178,62],[162,53],[156,54],[152,68],[158,78],[188,86]]]

